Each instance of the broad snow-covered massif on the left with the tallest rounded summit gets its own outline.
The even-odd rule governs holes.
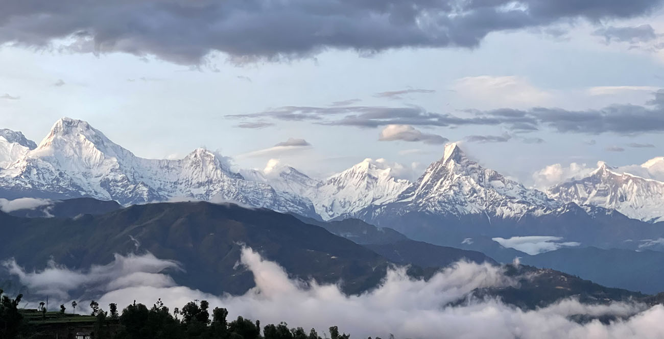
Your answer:
[[[84,121],[63,118],[34,150],[0,170],[5,195],[94,197],[123,205],[201,199],[315,215],[303,197],[245,180],[224,158],[199,148],[181,160],[133,155]]]

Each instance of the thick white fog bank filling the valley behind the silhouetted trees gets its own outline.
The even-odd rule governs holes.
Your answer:
[[[116,264],[109,266],[117,267]],[[157,264],[153,259],[149,262]],[[166,262],[169,263],[169,262]],[[161,263],[159,263],[161,264]],[[146,265],[149,279],[138,279],[136,265],[116,275],[117,285],[99,281],[100,275],[92,269],[82,275],[50,272],[41,277],[53,285],[68,285],[68,281],[98,281],[101,291],[96,300],[100,305],[118,303],[121,307],[135,300],[151,305],[161,298],[167,307],[181,307],[192,300],[207,300],[210,307],[226,307],[229,318],[242,315],[258,319],[263,324],[286,321],[291,326],[317,328],[323,332],[331,324],[338,325],[353,338],[368,336],[395,338],[495,338],[495,339],[553,339],[553,338],[659,338],[664,336],[664,307],[647,308],[638,303],[610,303],[587,305],[566,299],[547,307],[523,310],[506,305],[497,299],[477,299],[471,294],[485,287],[511,287],[515,280],[507,277],[503,269],[489,264],[459,262],[443,269],[428,281],[412,279],[406,269],[388,272],[375,289],[362,295],[344,295],[337,285],[319,285],[311,281],[308,286],[290,279],[288,273],[274,262],[269,262],[244,248],[238,267],[246,267],[254,274],[256,287],[244,295],[215,296],[184,286],[172,285],[163,273],[152,275],[155,265]],[[16,267],[17,272],[25,271]],[[57,270],[57,269],[56,269]],[[106,270],[112,271],[112,270]],[[87,276],[92,277],[88,278]],[[22,275],[25,277],[25,275]],[[22,281],[24,278],[22,278]],[[30,280],[34,280],[29,279]],[[41,286],[41,285],[39,285]],[[117,288],[117,289],[114,289]],[[44,293],[46,289],[39,289]],[[35,288],[31,289],[34,291]],[[463,301],[457,303],[457,301]],[[451,304],[454,303],[454,304]],[[57,304],[57,303],[56,303]],[[80,300],[82,309],[88,304]],[[590,320],[575,322],[572,318],[616,316],[612,322]]]

